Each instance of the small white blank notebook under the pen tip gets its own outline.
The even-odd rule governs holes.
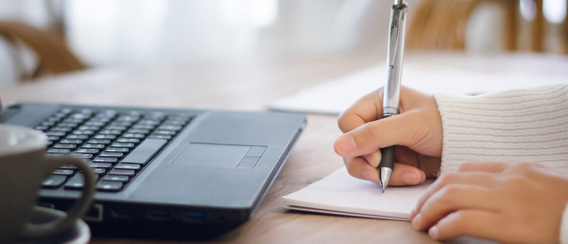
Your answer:
[[[342,167],[300,191],[283,196],[284,207],[307,212],[408,221],[411,210],[433,180],[410,187],[381,186],[356,179]]]

